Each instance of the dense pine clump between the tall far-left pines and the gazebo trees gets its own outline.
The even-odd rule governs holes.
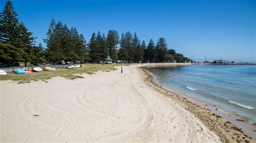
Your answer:
[[[47,61],[61,63],[63,60],[90,60],[84,36],[77,32],[76,27],[69,29],[66,24],[56,23],[55,19],[52,19],[46,35],[44,42],[47,48],[44,51],[44,58]]]

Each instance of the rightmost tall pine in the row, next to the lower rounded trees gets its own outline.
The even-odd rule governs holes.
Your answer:
[[[167,54],[167,43],[165,41],[165,38],[161,37],[157,41],[156,45],[156,52],[157,52],[157,62],[164,62],[166,61],[166,54]]]

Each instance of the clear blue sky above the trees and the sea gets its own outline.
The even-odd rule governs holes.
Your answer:
[[[0,0],[2,12],[5,0]],[[75,26],[86,41],[92,32],[136,32],[146,44],[164,37],[169,48],[188,58],[255,62],[254,0],[82,1],[12,0],[18,17],[37,37],[46,37],[51,18]]]

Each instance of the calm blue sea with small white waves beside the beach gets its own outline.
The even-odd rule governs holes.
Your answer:
[[[165,87],[256,122],[256,66],[148,66]]]

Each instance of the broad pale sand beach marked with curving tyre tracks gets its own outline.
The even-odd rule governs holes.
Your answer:
[[[0,142],[219,142],[190,112],[144,83],[138,66],[84,77],[1,81]]]

